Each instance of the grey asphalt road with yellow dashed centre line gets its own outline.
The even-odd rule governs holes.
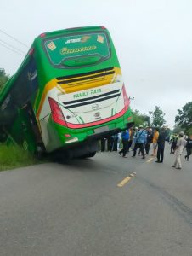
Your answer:
[[[0,172],[0,256],[191,256],[192,158],[131,155]]]

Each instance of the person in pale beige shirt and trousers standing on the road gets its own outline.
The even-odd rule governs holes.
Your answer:
[[[186,146],[186,141],[184,139],[184,131],[180,131],[178,134],[178,143],[176,145],[176,150],[175,150],[175,162],[172,165],[172,167],[181,169],[181,154],[184,150],[184,147]]]

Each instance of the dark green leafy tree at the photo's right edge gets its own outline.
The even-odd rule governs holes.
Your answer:
[[[192,127],[192,102],[188,102],[181,109],[178,109],[178,115],[175,117],[176,125],[179,125],[185,131]]]

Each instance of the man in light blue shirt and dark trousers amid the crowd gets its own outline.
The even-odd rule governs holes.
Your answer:
[[[145,158],[144,156],[144,143],[146,143],[146,133],[143,130],[143,125],[139,125],[139,131],[136,133],[135,137],[135,146],[133,149],[133,157],[135,157],[137,153],[137,149],[140,148],[141,154],[143,155],[143,159]]]

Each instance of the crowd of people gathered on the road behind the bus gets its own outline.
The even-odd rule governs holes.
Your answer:
[[[117,151],[121,157],[127,158],[127,154],[133,151],[132,157],[135,157],[138,151],[138,155],[142,155],[142,159],[145,159],[146,154],[150,154],[150,148],[152,147],[152,156],[155,156],[156,163],[163,163],[165,142],[170,143],[171,152],[175,154],[175,162],[172,167],[181,169],[181,154],[186,148],[185,160],[189,160],[189,155],[192,150],[192,135],[189,137],[184,135],[183,131],[178,134],[167,134],[167,128],[165,126],[160,128],[144,128],[143,125],[139,127],[131,127],[126,131],[117,133],[116,135],[103,138],[101,140],[101,151]],[[122,148],[120,148],[122,146]]]

